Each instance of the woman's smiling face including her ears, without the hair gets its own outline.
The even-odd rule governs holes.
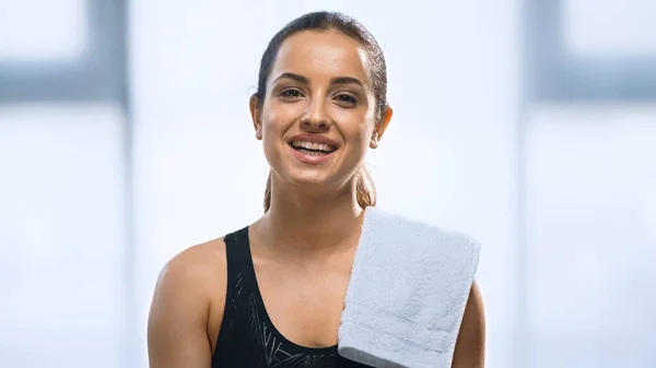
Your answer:
[[[343,186],[375,147],[389,121],[376,124],[367,56],[337,32],[304,31],[288,37],[258,108],[256,136],[273,175],[295,185]]]

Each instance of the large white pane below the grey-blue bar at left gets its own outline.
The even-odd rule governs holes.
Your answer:
[[[122,366],[124,173],[118,106],[0,106],[0,366]]]

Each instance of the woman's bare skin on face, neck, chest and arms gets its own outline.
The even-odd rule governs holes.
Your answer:
[[[272,173],[271,209],[249,229],[258,284],[276,328],[307,347],[337,344],[363,215],[354,174],[393,115],[387,108],[375,119],[366,71],[366,54],[353,39],[301,32],[283,43],[265,100],[250,100],[255,135]],[[339,149],[325,164],[301,163],[288,144],[298,133],[326,135]],[[225,262],[220,238],[188,248],[164,266],[149,317],[151,368],[211,366],[225,302]],[[475,283],[454,368],[483,367],[484,335]]]

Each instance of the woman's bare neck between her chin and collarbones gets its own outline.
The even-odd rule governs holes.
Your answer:
[[[304,193],[271,180],[271,206],[260,219],[269,245],[290,251],[328,251],[359,236],[364,212],[354,183],[330,194]]]

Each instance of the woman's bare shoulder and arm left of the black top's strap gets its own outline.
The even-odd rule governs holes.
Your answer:
[[[151,367],[209,366],[211,327],[223,316],[226,273],[223,238],[189,247],[164,265],[149,313]]]

